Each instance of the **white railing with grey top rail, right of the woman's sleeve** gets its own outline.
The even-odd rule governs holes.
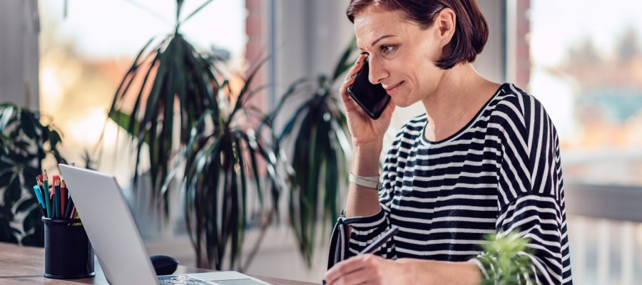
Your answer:
[[[642,187],[565,192],[574,284],[642,284]]]

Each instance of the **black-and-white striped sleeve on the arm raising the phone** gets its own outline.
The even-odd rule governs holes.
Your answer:
[[[387,152],[382,172],[382,186],[379,189],[379,204],[381,211],[370,217],[345,217],[345,211],[337,220],[332,229],[330,240],[330,254],[327,259],[327,268],[330,269],[337,262],[356,256],[371,244],[377,237],[390,228],[390,209],[397,186],[397,154],[401,143],[401,134],[397,135],[392,147]],[[347,237],[347,227],[350,226],[350,237]],[[374,254],[386,259],[397,259],[394,251],[394,237]]]

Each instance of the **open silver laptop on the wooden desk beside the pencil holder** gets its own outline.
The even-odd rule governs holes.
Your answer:
[[[116,178],[59,164],[109,284],[266,285],[237,271],[156,276]]]

